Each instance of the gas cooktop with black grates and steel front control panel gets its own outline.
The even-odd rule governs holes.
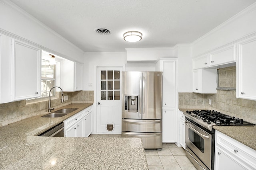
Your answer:
[[[214,110],[193,110],[186,111],[184,114],[187,119],[206,127],[211,130],[213,125],[228,126],[228,125],[255,125],[233,116],[225,115]]]

